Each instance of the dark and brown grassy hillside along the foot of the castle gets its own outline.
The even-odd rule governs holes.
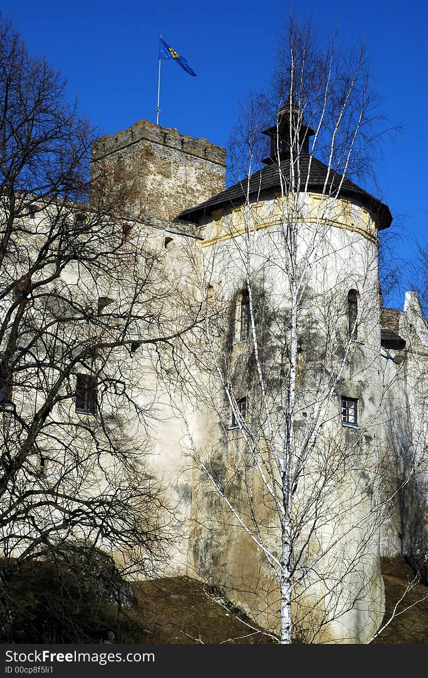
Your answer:
[[[221,594],[189,577],[121,582],[108,559],[95,565],[32,563],[0,597],[0,640],[14,643],[272,643]],[[75,564],[75,563],[74,563]],[[412,573],[402,559],[383,559],[385,620]],[[119,593],[132,607],[118,610]],[[412,587],[374,643],[428,643],[428,588]],[[407,610],[405,608],[408,607]],[[405,610],[405,611],[404,611]],[[404,611],[404,612],[403,612]],[[244,623],[244,622],[247,622]]]

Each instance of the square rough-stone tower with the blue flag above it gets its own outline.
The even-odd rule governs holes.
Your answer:
[[[131,188],[135,218],[171,220],[223,191],[226,150],[147,120],[93,144],[91,177],[108,174]]]

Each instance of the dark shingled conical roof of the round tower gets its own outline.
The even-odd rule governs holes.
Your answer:
[[[303,185],[307,177],[309,158],[310,156],[307,153],[301,153],[299,157]],[[290,159],[282,161],[281,172],[282,176],[287,180],[290,176]],[[309,182],[307,184],[308,190],[314,191],[315,193],[322,193],[327,172],[327,165],[324,165],[320,160],[312,157]],[[340,181],[340,174],[337,174],[337,172],[333,172],[333,169],[330,169],[326,192],[333,193],[339,186]],[[259,169],[258,172],[251,175],[249,186],[250,195],[257,195],[258,193],[264,193],[265,191],[274,191],[278,188],[280,188],[278,165],[267,165],[267,167],[263,167],[262,169]],[[190,210],[184,210],[177,218],[184,221],[198,222],[200,218],[203,218],[214,210],[218,210],[219,207],[224,207],[225,205],[239,205],[244,201],[245,195],[247,195],[247,179],[238,182],[238,184],[234,184],[234,186],[230,186],[230,188],[227,188],[226,191],[223,191],[222,193],[214,195],[212,198],[205,201],[205,203],[200,203],[200,205],[196,205],[196,207],[191,207]],[[343,197],[356,198],[361,201],[370,212],[374,212],[377,216],[379,229],[388,228],[388,226],[391,225],[392,216],[391,212],[389,212],[389,207],[384,203],[381,203],[380,200],[374,198],[370,193],[367,193],[367,191],[364,191],[360,186],[349,181],[349,179],[343,180],[340,195]]]

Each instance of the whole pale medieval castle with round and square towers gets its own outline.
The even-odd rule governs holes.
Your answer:
[[[428,332],[415,294],[403,311],[382,305],[377,233],[391,224],[389,208],[312,155],[313,130],[301,120],[293,146],[294,122],[278,113],[264,132],[263,167],[230,188],[225,149],[176,129],[142,120],[93,144],[93,185],[102,178],[112,194],[127,189],[126,216],[117,218],[123,262],[135,278],[134,252],[139,280],[150,279],[150,266],[163,277],[152,288],[158,302],[147,285],[135,287],[135,323],[109,342],[115,304],[125,304],[125,264],[112,269],[114,280],[91,282],[92,325],[89,283],[83,294],[83,274],[70,265],[45,307],[66,317],[74,285],[83,320],[63,348],[56,339],[49,370],[68,346],[74,360],[73,342],[105,320],[130,454],[145,449],[135,417],[156,410],[147,456],[175,519],[163,572],[218,584],[273,633],[292,611],[303,641],[364,642],[385,611],[381,555],[426,553]],[[89,210],[97,200],[94,189]],[[39,207],[28,219],[41,215]],[[14,292],[22,313],[25,280]],[[177,296],[162,291],[165,281]],[[97,351],[83,352],[54,411],[84,422],[85,435],[101,410]],[[134,378],[135,416],[122,375]],[[4,382],[5,403],[10,389]],[[109,402],[91,433],[103,473],[99,441],[119,420]]]

